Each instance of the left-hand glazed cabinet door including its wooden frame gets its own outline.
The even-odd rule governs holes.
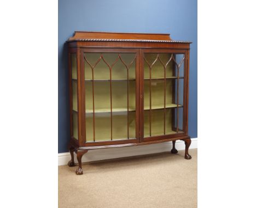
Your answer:
[[[138,54],[130,49],[81,51],[86,145],[139,141]]]

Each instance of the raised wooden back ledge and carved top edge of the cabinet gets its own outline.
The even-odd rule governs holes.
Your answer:
[[[75,31],[74,36],[67,42],[74,41],[131,41],[131,42],[178,42],[191,43],[189,41],[176,41],[170,38],[170,34],[160,33],[113,33],[113,32],[87,32]]]

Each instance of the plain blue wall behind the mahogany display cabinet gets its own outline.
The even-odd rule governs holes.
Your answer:
[[[197,1],[59,1],[59,153],[69,141],[68,69],[65,41],[75,30],[170,33],[192,41],[190,50],[189,135],[197,137]]]

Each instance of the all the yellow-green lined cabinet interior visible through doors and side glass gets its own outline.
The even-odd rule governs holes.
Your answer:
[[[85,111],[86,111],[86,141],[94,140],[93,126],[93,94],[92,83],[94,83],[94,107],[95,107],[95,141],[110,140],[110,68],[112,75],[112,139],[127,139],[127,125],[129,127],[129,138],[135,138],[136,132],[136,60],[131,64],[127,74],[124,63],[118,58],[118,53],[85,53]],[[104,60],[108,63],[104,63]],[[121,53],[121,59],[129,65],[135,58],[135,53]],[[152,64],[157,54],[148,53],[146,59]],[[160,54],[164,64],[170,59],[171,54]],[[98,62],[98,63],[97,63]],[[115,63],[116,62],[116,63]],[[114,64],[115,63],[115,64]],[[113,65],[114,64],[114,65]],[[183,64],[184,65],[184,64]],[[72,78],[77,78],[76,56],[72,56]],[[94,82],[92,82],[92,68],[94,68]],[[182,68],[182,67],[181,67]],[[175,73],[173,72],[175,70]],[[129,119],[127,124],[127,75],[129,78]],[[166,118],[165,134],[173,134],[176,131],[177,104],[172,101],[173,84],[177,84],[177,69],[173,68],[173,61],[166,66]],[[183,76],[180,72],[180,76]],[[164,135],[164,66],[156,60],[152,67],[152,136]],[[179,81],[179,129],[182,129],[183,113],[183,79]],[[72,81],[73,87],[73,109],[77,111],[77,82]],[[177,100],[177,99],[176,99]],[[174,124],[172,121],[174,118]],[[74,137],[77,136],[77,114],[73,113]],[[149,137],[149,66],[144,64],[144,137]]]

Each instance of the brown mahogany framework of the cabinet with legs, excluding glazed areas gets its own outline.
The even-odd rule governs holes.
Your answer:
[[[75,32],[69,40],[75,39],[138,39],[138,40],[171,40],[169,34],[140,34],[140,33],[104,33],[104,32]],[[122,42],[122,41],[74,41],[68,42],[68,66],[69,66],[69,105],[71,119],[71,140],[69,148],[72,160],[69,165],[73,166],[73,151],[78,153],[79,168],[77,174],[83,174],[82,156],[91,149],[115,148],[120,146],[134,146],[173,141],[172,153],[177,153],[175,141],[178,139],[185,142],[185,158],[190,159],[188,154],[191,143],[188,136],[188,93],[189,93],[189,42]],[[86,142],[85,128],[85,76],[84,76],[84,52],[132,52],[136,53],[136,138],[109,140],[100,142]],[[78,82],[78,140],[72,137],[72,66],[71,53],[77,53],[77,82]],[[184,59],[184,86],[183,86],[183,132],[164,134],[144,138],[144,53],[183,53]],[[165,78],[164,78],[165,81]],[[111,82],[110,82],[111,83]],[[175,83],[174,83],[175,85]],[[166,87],[166,86],[165,86]],[[177,86],[173,87],[173,93]],[[127,88],[128,89],[128,88]],[[165,89],[166,91],[166,89]],[[165,92],[166,93],[166,92]],[[174,101],[175,97],[172,97]],[[128,101],[129,102],[129,101]],[[166,102],[166,101],[165,101]],[[177,100],[178,102],[178,100]],[[174,102],[173,102],[174,103]],[[177,108],[178,109],[178,108]],[[173,111],[174,112],[174,109]],[[173,117],[174,118],[174,117]],[[173,119],[174,121],[174,119]],[[173,123],[173,122],[172,122]],[[163,126],[165,130],[165,126]],[[178,128],[178,125],[177,125]],[[172,129],[176,131],[172,125]],[[129,130],[128,130],[129,131]]]

